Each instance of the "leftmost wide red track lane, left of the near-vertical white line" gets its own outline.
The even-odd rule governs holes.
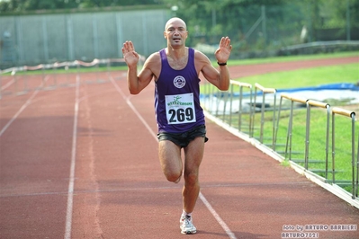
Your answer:
[[[39,92],[1,136],[1,238],[64,234],[73,101]]]

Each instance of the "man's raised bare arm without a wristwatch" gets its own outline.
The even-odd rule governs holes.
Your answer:
[[[149,57],[142,70],[137,75],[137,63],[139,62],[139,54],[135,51],[133,43],[131,41],[126,41],[123,43],[122,48],[123,58],[126,61],[128,66],[127,70],[127,84],[131,94],[140,93],[148,84],[151,82],[153,73],[148,67],[148,62],[150,61]]]

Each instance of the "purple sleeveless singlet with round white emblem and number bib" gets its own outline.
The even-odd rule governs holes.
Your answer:
[[[159,51],[161,72],[155,88],[158,133],[182,133],[204,125],[200,105],[200,79],[194,66],[194,49],[188,49],[188,62],[182,70],[169,66],[166,49]]]

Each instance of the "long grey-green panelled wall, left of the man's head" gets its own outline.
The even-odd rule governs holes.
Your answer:
[[[166,9],[0,17],[0,68],[121,58],[125,40],[140,54],[166,46]]]

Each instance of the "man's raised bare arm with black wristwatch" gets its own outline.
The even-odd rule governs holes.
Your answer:
[[[221,38],[220,47],[215,52],[217,62],[219,62],[220,64],[227,64],[231,49],[232,46],[230,45],[229,38]],[[199,60],[200,64],[202,65],[203,76],[221,91],[227,91],[229,89],[230,81],[228,66],[219,66],[219,69],[216,69],[211,65],[210,59],[202,53],[199,56]]]

